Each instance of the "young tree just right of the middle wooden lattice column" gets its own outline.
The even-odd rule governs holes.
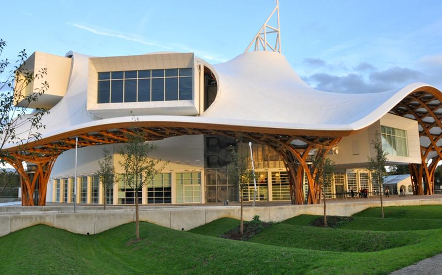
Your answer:
[[[314,163],[316,167],[315,181],[321,183],[323,202],[324,202],[324,227],[327,227],[325,190],[332,184],[333,173],[335,172],[335,163],[325,155],[320,154]]]

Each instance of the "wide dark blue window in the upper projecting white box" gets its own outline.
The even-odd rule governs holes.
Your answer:
[[[97,103],[191,100],[192,68],[98,73]]]

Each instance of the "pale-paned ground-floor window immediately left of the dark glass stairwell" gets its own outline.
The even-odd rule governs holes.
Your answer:
[[[176,203],[201,202],[201,172],[176,173]]]

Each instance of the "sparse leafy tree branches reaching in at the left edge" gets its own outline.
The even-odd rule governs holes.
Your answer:
[[[0,56],[6,47],[6,42],[0,39]],[[18,145],[23,148],[30,141],[37,140],[41,134],[39,129],[45,128],[41,119],[43,115],[49,113],[45,108],[35,108],[29,111],[29,106],[36,102],[38,98],[49,89],[49,84],[43,81],[47,70],[41,69],[36,72],[26,69],[25,60],[28,58],[26,51],[22,50],[18,54],[15,64],[11,64],[8,59],[0,60],[0,166],[5,167],[9,163],[19,163],[14,166],[15,172],[1,170],[2,173],[9,174],[10,179],[15,178],[18,168],[22,168],[20,156],[26,151],[17,150],[12,154],[6,150],[8,144]],[[12,70],[10,68],[12,67]],[[10,70],[10,71],[9,71]],[[40,85],[33,84],[36,81],[43,81]],[[34,91],[28,91],[31,86],[37,87]],[[20,106],[16,104],[20,102]],[[26,152],[26,156],[30,156]],[[5,187],[9,183],[5,183]],[[34,189],[31,183],[24,181],[22,190],[27,190],[23,194],[25,205],[34,205]],[[4,188],[0,190],[3,192]]]

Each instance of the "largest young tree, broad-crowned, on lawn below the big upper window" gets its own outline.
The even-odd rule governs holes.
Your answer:
[[[119,164],[123,168],[122,180],[124,184],[130,186],[135,192],[135,237],[140,240],[139,235],[139,214],[138,214],[138,192],[143,186],[146,186],[149,181],[157,173],[166,167],[169,162],[166,162],[161,167],[157,168],[161,159],[149,158],[149,153],[156,151],[158,147],[153,143],[145,142],[143,136],[139,132],[128,137],[128,142],[120,151],[122,160]]]

